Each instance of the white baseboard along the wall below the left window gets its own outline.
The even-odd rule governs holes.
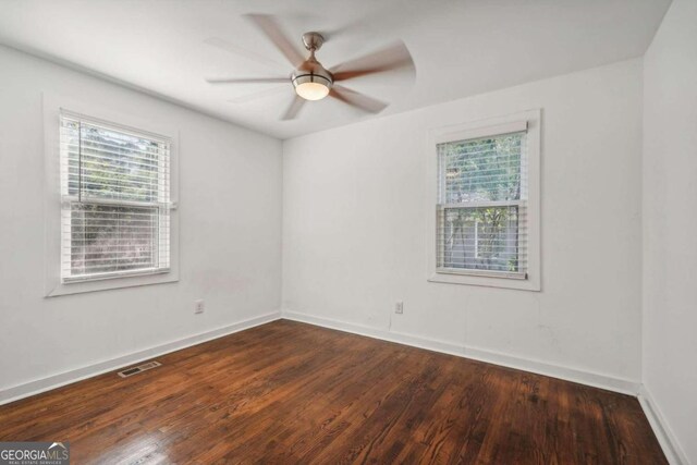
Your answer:
[[[256,326],[274,321],[280,318],[281,318],[281,311],[272,311],[267,315],[249,318],[247,320],[232,323],[232,325],[218,328],[211,331],[201,332],[199,334],[191,335],[184,339],[171,341],[171,342],[160,344],[154,347],[149,347],[143,351],[134,352],[129,355],[123,355],[121,357],[99,362],[94,365],[88,365],[74,370],[64,371],[62,374],[52,375],[46,378],[41,378],[34,381],[25,382],[22,384],[17,384],[11,388],[2,389],[0,390],[0,405],[19,401],[20,399],[28,397],[30,395],[39,394],[41,392],[50,391],[51,389],[60,388],[61,386],[71,384],[73,382],[81,381],[86,378],[91,378],[94,376],[112,371],[118,368],[133,365],[143,360],[147,360],[152,357],[158,357],[160,355],[164,355],[170,352],[191,347],[192,345],[200,344],[201,342],[210,341],[213,339],[221,338],[223,335],[228,335],[234,332],[243,331],[245,329],[254,328]]]

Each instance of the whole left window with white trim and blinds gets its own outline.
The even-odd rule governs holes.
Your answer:
[[[179,281],[179,130],[42,94],[45,295]]]

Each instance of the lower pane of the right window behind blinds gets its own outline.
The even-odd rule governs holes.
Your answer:
[[[518,207],[444,208],[439,212],[440,268],[518,272]]]

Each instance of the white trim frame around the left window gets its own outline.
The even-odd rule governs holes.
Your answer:
[[[42,94],[44,101],[44,215],[45,215],[45,295],[47,297],[106,291],[148,284],[179,281],[179,131],[167,124],[152,123],[138,115],[126,114],[101,105],[95,105],[70,97]],[[144,132],[160,134],[171,140],[170,146],[170,270],[158,273],[139,273],[109,279],[62,282],[60,270],[61,254],[61,189],[60,189],[60,111],[111,121],[135,127]]]

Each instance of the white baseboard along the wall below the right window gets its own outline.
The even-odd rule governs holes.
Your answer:
[[[575,368],[551,365],[540,360],[521,358],[513,355],[454,344],[452,342],[438,341],[395,331],[387,331],[363,325],[301,314],[297,311],[283,310],[283,318],[335,329],[344,332],[367,335],[369,338],[380,339],[383,341],[427,348],[429,351],[442,352],[444,354],[456,355],[460,357],[473,358],[475,360],[487,362],[509,368],[521,369],[538,375],[549,376],[552,378],[578,382],[580,384],[606,389],[608,391],[614,391],[622,394],[636,396],[639,393],[640,383],[638,381],[632,381],[621,378],[614,378],[607,375],[583,371]]]

